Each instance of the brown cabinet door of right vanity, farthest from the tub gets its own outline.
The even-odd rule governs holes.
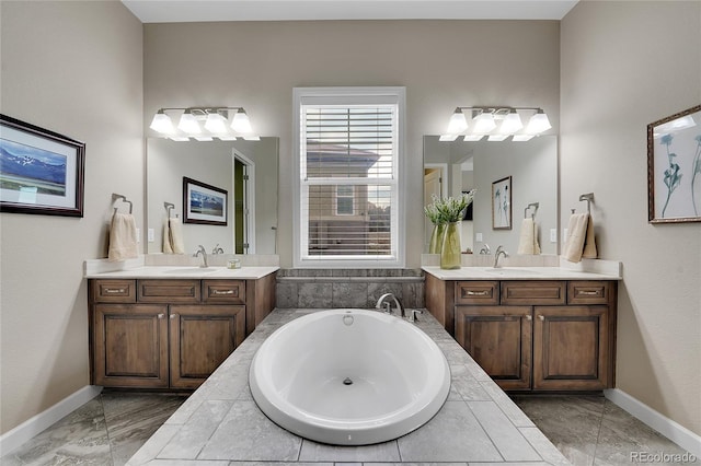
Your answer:
[[[535,389],[610,387],[607,306],[537,306]]]

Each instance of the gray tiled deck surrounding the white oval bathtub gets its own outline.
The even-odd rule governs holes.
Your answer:
[[[128,465],[226,466],[257,463],[524,463],[568,462],[526,415],[427,313],[420,326],[451,370],[448,400],[426,424],[368,446],[331,446],[277,427],[257,408],[249,366],[275,329],[314,310],[275,310],[131,457]]]

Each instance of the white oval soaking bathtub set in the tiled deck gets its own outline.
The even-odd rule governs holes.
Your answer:
[[[450,391],[438,346],[381,312],[319,311],[284,325],[249,373],[261,410],[281,428],[335,445],[397,439],[427,422]]]

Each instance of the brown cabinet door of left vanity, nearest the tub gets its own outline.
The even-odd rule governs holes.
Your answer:
[[[170,307],[171,386],[196,388],[241,345],[245,306]]]

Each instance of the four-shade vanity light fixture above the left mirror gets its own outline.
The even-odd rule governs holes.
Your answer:
[[[179,118],[177,127],[173,119]],[[165,107],[153,116],[150,128],[173,141],[260,140],[253,135],[243,107]]]

